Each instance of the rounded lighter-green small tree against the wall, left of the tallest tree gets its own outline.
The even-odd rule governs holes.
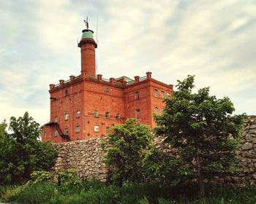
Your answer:
[[[115,125],[108,134],[105,163],[110,168],[110,180],[121,187],[124,181],[141,181],[143,149],[151,144],[151,130],[136,119]]]

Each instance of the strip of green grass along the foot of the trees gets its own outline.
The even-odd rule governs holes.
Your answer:
[[[162,187],[158,184],[127,184],[122,188],[106,186],[99,181],[82,181],[60,187],[50,182],[20,187],[0,187],[0,200],[16,203],[48,204],[255,204],[256,189],[252,187],[206,187],[207,198],[198,197],[196,184]]]

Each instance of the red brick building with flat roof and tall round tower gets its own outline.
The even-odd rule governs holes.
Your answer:
[[[106,136],[108,128],[127,118],[154,127],[153,114],[160,114],[163,98],[171,95],[173,85],[146,76],[103,79],[95,71],[97,44],[93,31],[83,30],[78,43],[81,74],[50,85],[50,122],[44,125],[42,141],[60,143]]]

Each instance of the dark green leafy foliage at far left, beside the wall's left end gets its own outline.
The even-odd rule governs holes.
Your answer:
[[[34,170],[49,170],[57,152],[50,142],[40,142],[39,124],[26,112],[23,117],[10,118],[10,131],[0,137],[1,184],[26,181]]]

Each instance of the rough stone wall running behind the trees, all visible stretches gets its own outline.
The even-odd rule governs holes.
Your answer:
[[[101,138],[93,138],[84,141],[72,141],[56,144],[59,148],[59,156],[54,170],[66,170],[75,168],[80,178],[98,178],[105,181],[108,176],[108,168],[102,162],[105,151],[100,147]],[[162,139],[155,141],[156,145],[164,152],[176,154],[162,144]],[[256,116],[250,116],[244,122],[241,132],[241,144],[237,151],[238,164],[241,167],[237,175],[225,178],[216,178],[220,182],[235,183],[237,185],[251,184],[256,186]]]

